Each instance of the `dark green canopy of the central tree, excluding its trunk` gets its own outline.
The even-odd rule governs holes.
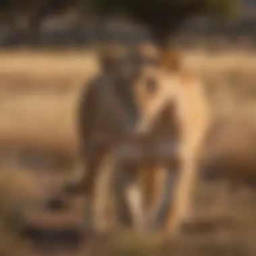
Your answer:
[[[214,14],[226,18],[238,9],[239,0],[94,0],[92,5],[99,14],[110,15],[123,10],[143,22],[150,19],[166,20],[171,13]]]

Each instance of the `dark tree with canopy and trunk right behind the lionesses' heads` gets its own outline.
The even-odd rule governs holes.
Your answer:
[[[159,46],[166,46],[184,22],[196,15],[230,18],[239,0],[92,0],[92,8],[102,17],[119,11],[148,26]]]

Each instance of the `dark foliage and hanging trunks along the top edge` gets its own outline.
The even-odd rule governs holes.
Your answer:
[[[41,20],[47,15],[63,9],[76,8],[80,14],[95,13],[99,17],[121,12],[133,21],[148,26],[154,39],[162,42],[195,15],[206,14],[218,20],[234,17],[240,2],[241,0],[0,0],[0,12],[26,17],[30,24],[30,36],[36,35]]]

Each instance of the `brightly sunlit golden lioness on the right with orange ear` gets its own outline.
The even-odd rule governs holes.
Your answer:
[[[139,108],[142,110],[141,119],[137,122],[137,140],[139,141],[141,136],[147,135],[146,140],[153,141],[151,143],[152,150],[156,150],[156,148],[158,151],[163,150],[161,154],[158,154],[158,157],[152,155],[151,150],[150,154],[154,158],[154,164],[157,161],[159,164],[164,163],[170,171],[176,169],[175,172],[178,172],[179,175],[174,187],[173,202],[168,202],[172,207],[168,212],[166,223],[167,229],[175,233],[180,230],[181,224],[189,216],[191,195],[193,195],[193,187],[197,178],[197,160],[203,145],[204,135],[210,125],[210,108],[203,91],[203,85],[197,77],[193,77],[185,70],[181,55],[172,51],[163,53],[162,57],[158,59],[157,65],[142,67],[135,83],[135,90]],[[165,113],[164,118],[163,112]],[[166,142],[169,143],[169,146],[166,147],[167,150],[170,150],[169,158],[173,159],[172,156],[177,154],[179,158],[179,161],[174,160],[174,162],[169,162],[169,165],[166,165],[165,162],[168,157],[161,157],[166,154],[166,150],[163,149]],[[143,160],[146,154],[145,142],[142,142],[141,145],[140,150],[141,147],[144,147],[143,156],[141,156],[141,160]],[[117,152],[120,153],[122,149],[127,149],[127,146],[136,150],[132,141],[126,141],[123,148],[119,143]],[[136,160],[135,155],[128,161],[127,154],[117,154],[116,156],[119,178],[120,175],[125,174],[126,180],[133,179],[134,181],[134,172],[126,171],[127,164],[128,166],[135,164],[137,169],[145,166],[145,162]],[[147,164],[151,163],[150,159],[146,162]],[[144,172],[142,183],[154,183],[156,177],[152,177],[152,171],[144,170]],[[151,181],[148,179],[150,176]],[[121,183],[119,179],[117,184],[119,184],[119,191],[121,191],[121,187],[125,184],[124,181]],[[168,185],[170,186],[170,183]],[[144,187],[146,187],[144,196],[154,194],[150,184],[146,184]],[[120,197],[125,203],[125,197],[122,195]],[[137,202],[137,205],[140,203],[141,201]],[[162,208],[168,209],[166,206],[168,205],[165,201],[153,217],[151,224],[153,223],[154,226],[160,224],[163,214]],[[142,221],[141,210],[138,210],[137,207],[134,211],[135,216],[140,214],[138,222]]]

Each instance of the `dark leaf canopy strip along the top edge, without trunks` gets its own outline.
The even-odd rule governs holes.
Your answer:
[[[49,9],[62,9],[90,3],[92,9],[99,15],[111,15],[122,10],[131,15],[131,18],[148,24],[158,20],[166,22],[166,20],[172,20],[172,15],[177,16],[183,13],[187,15],[209,13],[226,17],[234,13],[239,2],[240,0],[24,0],[22,2],[0,0],[0,9],[25,11],[46,5]]]

